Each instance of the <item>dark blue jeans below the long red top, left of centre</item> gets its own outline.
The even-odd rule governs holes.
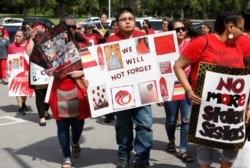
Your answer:
[[[62,148],[64,158],[71,158],[70,150],[70,127],[71,138],[73,144],[78,144],[82,134],[84,120],[78,120],[75,118],[67,118],[63,120],[56,120],[57,124],[57,136]]]

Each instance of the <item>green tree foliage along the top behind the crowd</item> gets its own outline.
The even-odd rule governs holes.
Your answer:
[[[1,0],[0,13],[99,16],[101,12],[109,13],[109,1],[112,17],[118,8],[129,6],[137,17],[213,19],[224,10],[242,11],[249,0]]]

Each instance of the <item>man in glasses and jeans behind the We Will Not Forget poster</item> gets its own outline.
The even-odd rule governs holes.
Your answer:
[[[135,30],[135,15],[131,8],[121,8],[116,16],[118,30],[110,36],[107,42],[119,41],[133,37],[144,36],[142,31]],[[149,167],[149,154],[153,145],[151,106],[116,112],[116,141],[119,145],[117,168],[128,168],[130,152],[134,150],[134,168]],[[135,139],[133,144],[133,124],[135,124]]]

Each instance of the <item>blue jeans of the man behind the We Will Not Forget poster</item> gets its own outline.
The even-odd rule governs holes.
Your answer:
[[[134,150],[136,163],[145,163],[153,146],[151,106],[116,112],[116,141],[120,159],[129,160],[133,150],[133,123],[135,124]]]

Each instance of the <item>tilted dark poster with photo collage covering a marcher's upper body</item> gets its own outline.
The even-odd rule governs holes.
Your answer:
[[[82,68],[79,45],[65,22],[36,37],[34,41],[41,55],[32,54],[31,61],[45,69],[56,68],[56,80]]]

